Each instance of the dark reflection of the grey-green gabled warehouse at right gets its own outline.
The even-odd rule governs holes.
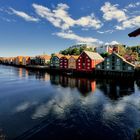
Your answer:
[[[111,99],[130,95],[134,93],[134,81],[123,80],[96,80],[97,87],[108,95]]]

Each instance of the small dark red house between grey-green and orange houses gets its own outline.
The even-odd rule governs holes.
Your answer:
[[[65,55],[60,58],[60,69],[67,69],[68,68],[68,60],[71,56]]]

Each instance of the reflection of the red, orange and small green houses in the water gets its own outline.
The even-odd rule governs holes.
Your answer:
[[[72,78],[62,75],[50,75],[52,84],[60,84],[63,87],[77,88],[83,95],[94,92],[96,82],[85,78]]]

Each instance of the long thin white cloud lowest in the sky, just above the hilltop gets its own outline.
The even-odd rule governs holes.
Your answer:
[[[73,32],[58,32],[55,33],[58,37],[74,40],[77,42],[84,42],[84,43],[102,43],[102,41],[93,38],[93,37],[82,37],[79,35],[74,34]]]

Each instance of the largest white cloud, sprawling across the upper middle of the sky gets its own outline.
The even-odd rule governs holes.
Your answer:
[[[79,19],[73,19],[67,10],[69,6],[67,4],[60,3],[54,10],[44,7],[42,5],[33,4],[32,5],[36,13],[51,22],[55,27],[62,30],[68,30],[70,27],[81,26],[85,28],[95,28],[99,29],[102,26],[100,20],[98,20],[94,14],[89,16],[81,17]]]

